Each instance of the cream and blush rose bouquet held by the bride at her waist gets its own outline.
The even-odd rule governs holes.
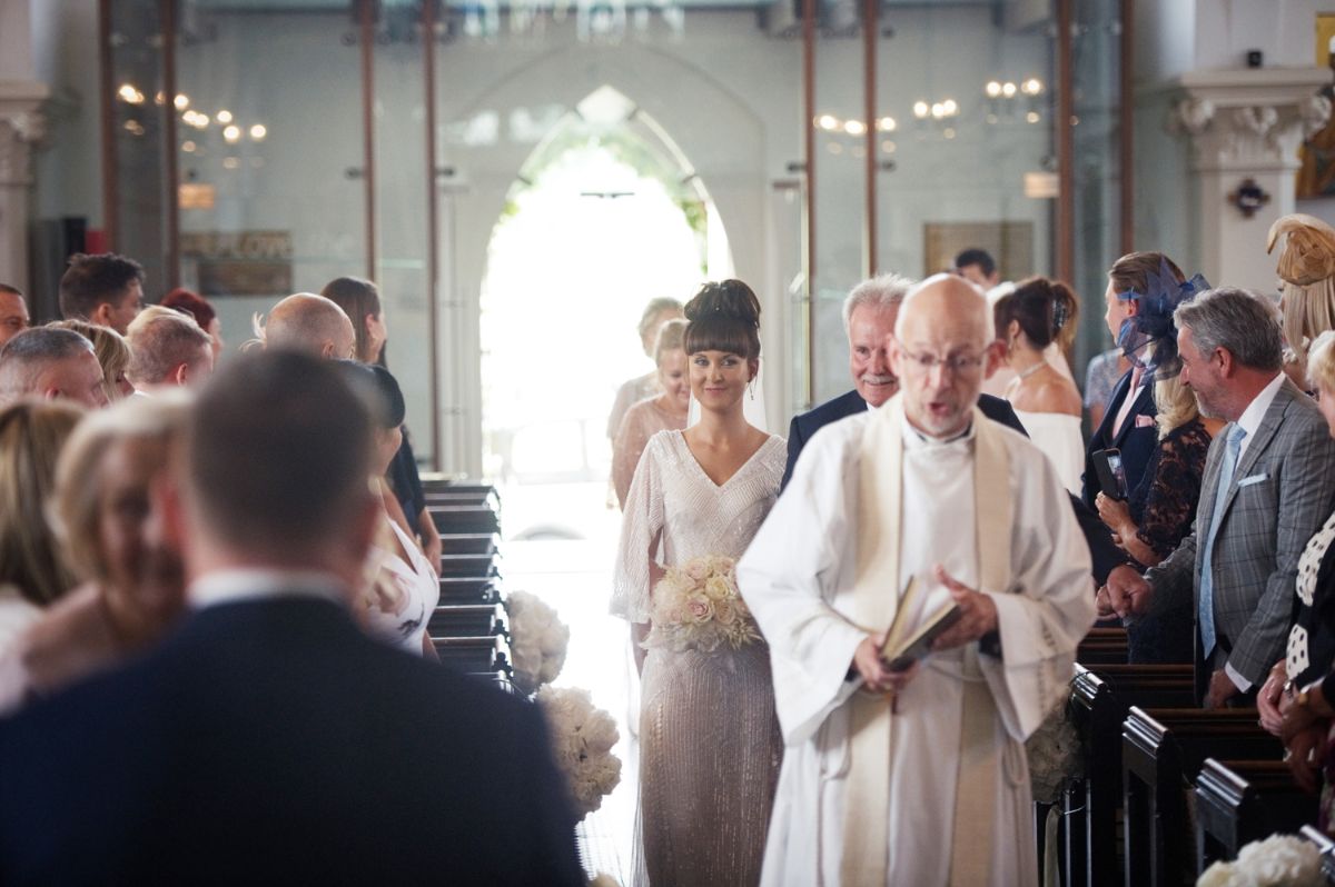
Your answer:
[[[761,639],[737,591],[737,562],[716,555],[668,568],[654,586],[653,623],[645,647],[678,652],[714,652],[722,646],[741,650]]]

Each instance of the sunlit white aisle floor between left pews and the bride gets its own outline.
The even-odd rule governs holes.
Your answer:
[[[607,614],[621,515],[607,510],[602,484],[507,487],[501,496],[506,588],[539,596],[570,627],[566,664],[555,686],[587,690],[594,704],[617,719],[621,783],[581,823],[579,844],[590,874],[606,872],[629,887],[638,770],[626,728],[633,667],[629,627]],[[514,539],[534,527],[563,527],[585,538]]]

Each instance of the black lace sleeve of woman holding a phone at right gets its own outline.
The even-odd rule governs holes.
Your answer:
[[[1210,433],[1193,419],[1159,441],[1153,482],[1140,516],[1140,542],[1167,558],[1191,532],[1206,472]]]

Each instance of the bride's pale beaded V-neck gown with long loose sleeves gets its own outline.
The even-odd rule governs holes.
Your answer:
[[[784,439],[770,436],[716,484],[680,431],[654,435],[626,498],[613,614],[650,622],[654,551],[663,567],[740,558],[774,504],[785,460]],[[641,700],[637,870],[653,887],[758,884],[782,758],[769,648],[651,646]]]

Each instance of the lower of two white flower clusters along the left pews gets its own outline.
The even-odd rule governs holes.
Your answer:
[[[621,739],[617,722],[593,704],[587,690],[547,686],[535,699],[547,719],[557,767],[565,774],[570,800],[582,820],[621,782],[621,759],[611,754]]]

